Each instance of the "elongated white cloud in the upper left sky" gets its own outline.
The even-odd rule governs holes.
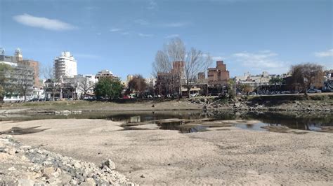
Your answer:
[[[38,27],[42,29],[62,31],[75,29],[72,24],[62,22],[60,20],[51,20],[46,17],[35,17],[29,14],[15,15],[13,19],[20,24],[24,24],[29,27]]]

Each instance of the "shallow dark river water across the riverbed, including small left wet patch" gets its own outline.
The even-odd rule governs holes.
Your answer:
[[[266,131],[266,126],[285,126],[290,129],[304,131],[333,132],[333,115],[331,113],[287,113],[287,112],[265,112],[265,113],[233,113],[223,112],[218,114],[206,113],[200,110],[171,110],[171,111],[136,111],[136,112],[87,112],[79,115],[10,115],[1,117],[0,121],[24,121],[24,120],[47,120],[47,119],[103,119],[115,122],[123,122],[124,130],[178,130],[181,133],[192,133],[207,131],[209,127],[239,127],[241,129]],[[170,119],[174,118],[174,120]],[[177,119],[178,118],[178,119]],[[204,122],[203,119],[211,118],[214,121]],[[167,122],[157,122],[168,120]],[[193,122],[181,120],[202,120]],[[256,123],[247,121],[256,120]],[[228,122],[230,121],[230,122]],[[244,121],[244,122],[242,122]],[[143,126],[144,124],[155,124],[155,126]],[[138,127],[133,127],[138,126]],[[24,132],[39,132],[43,129],[14,129],[14,134]]]

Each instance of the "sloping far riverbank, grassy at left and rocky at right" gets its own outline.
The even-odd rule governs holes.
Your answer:
[[[41,101],[4,103],[0,114],[76,114],[98,111],[233,110],[333,112],[333,93],[273,96],[237,96],[233,99],[194,97],[191,99],[128,99],[109,101]]]

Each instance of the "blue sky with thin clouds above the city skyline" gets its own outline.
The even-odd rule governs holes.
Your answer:
[[[333,69],[332,0],[0,0],[0,47],[53,64],[62,51],[79,74],[152,74],[172,38],[223,60],[230,76]],[[211,67],[215,66],[215,62]]]

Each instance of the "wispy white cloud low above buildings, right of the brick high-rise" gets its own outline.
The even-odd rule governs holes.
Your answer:
[[[240,63],[247,69],[256,71],[268,71],[270,73],[285,73],[289,69],[287,62],[277,59],[278,54],[270,50],[259,52],[237,52],[231,55],[230,59]]]

